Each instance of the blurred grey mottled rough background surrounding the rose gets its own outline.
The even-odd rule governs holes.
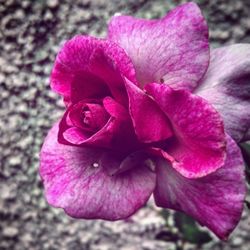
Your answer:
[[[39,150],[63,103],[50,91],[55,55],[76,34],[104,37],[117,12],[163,16],[186,1],[0,0],[0,250],[249,249],[250,216],[220,242],[153,202],[127,221],[74,220],[48,206],[38,175]],[[250,43],[249,0],[200,0],[213,47]]]

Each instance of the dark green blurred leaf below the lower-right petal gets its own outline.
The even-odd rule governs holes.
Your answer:
[[[212,240],[211,236],[198,228],[195,220],[183,213],[176,212],[174,215],[176,227],[182,233],[183,240],[202,245]]]

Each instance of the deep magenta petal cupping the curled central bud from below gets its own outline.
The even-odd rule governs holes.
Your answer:
[[[111,115],[107,123],[97,132],[88,132],[68,122],[70,106],[59,123],[58,141],[65,145],[95,146],[132,152],[139,146],[128,111],[111,97],[103,100],[104,108]]]

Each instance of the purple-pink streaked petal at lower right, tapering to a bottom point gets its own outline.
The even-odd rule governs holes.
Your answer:
[[[164,160],[157,166],[157,205],[185,212],[221,239],[239,222],[245,194],[242,156],[229,137],[225,165],[208,176],[187,179]]]

